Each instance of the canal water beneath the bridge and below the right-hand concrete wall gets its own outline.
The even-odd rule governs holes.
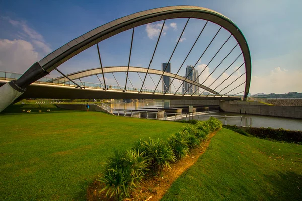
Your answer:
[[[153,108],[157,106],[169,106],[169,101],[152,101],[145,100],[141,102],[130,102],[130,103],[107,103],[114,109],[137,109],[137,108]],[[249,114],[238,114],[238,113],[212,113],[212,115],[226,115],[226,116],[242,116],[247,117],[250,125],[250,118],[252,118],[252,127],[272,127],[272,128],[284,128],[290,130],[302,130],[302,119],[283,118],[283,117],[272,117],[262,115],[249,115]]]

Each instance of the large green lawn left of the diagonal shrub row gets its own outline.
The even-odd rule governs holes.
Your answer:
[[[85,200],[114,147],[167,138],[182,126],[101,112],[0,115],[0,200]]]

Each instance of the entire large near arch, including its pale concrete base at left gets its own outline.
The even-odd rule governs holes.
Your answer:
[[[170,6],[150,9],[116,19],[58,48],[39,62],[34,63],[18,80],[9,82],[5,87],[0,87],[0,97],[5,96],[5,99],[0,99],[2,100],[0,101],[0,111],[19,97],[31,83],[46,76],[62,63],[96,43],[140,25],[174,18],[208,20],[222,26],[234,36],[243,52],[245,62],[246,85],[244,97],[246,98],[251,82],[251,56],[247,41],[236,24],[229,18],[210,9],[197,6]]]

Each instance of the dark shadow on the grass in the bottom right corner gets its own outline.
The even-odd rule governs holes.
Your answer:
[[[273,190],[263,192],[270,200],[302,200],[302,174],[282,172],[263,178]]]

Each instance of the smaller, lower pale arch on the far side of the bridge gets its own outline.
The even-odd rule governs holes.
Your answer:
[[[115,73],[115,72],[127,72],[128,70],[128,66],[112,66],[112,67],[103,67],[103,72],[105,73]],[[147,69],[147,68],[142,68],[142,67],[133,67],[133,66],[129,66],[129,72],[140,72],[140,73],[149,73],[149,74],[155,74],[155,75],[162,75],[164,71],[162,70],[155,70],[155,69]],[[102,74],[102,68],[94,68],[94,69],[88,69],[88,70],[82,70],[82,71],[78,71],[78,72],[74,72],[74,73],[70,73],[67,74],[66,76],[71,79],[71,80],[75,80],[75,79],[81,79],[83,77],[89,77],[89,76],[93,76],[93,75],[98,75],[98,74]],[[185,77],[179,76],[179,75],[175,75],[173,73],[170,72],[164,72],[164,76],[167,77],[175,77],[175,79],[179,79],[181,81],[185,81],[188,82],[190,84],[193,84],[197,87],[206,89],[207,91],[213,93],[213,94],[218,94],[218,92],[202,85],[199,84],[197,82],[194,82],[191,79],[186,79]],[[60,81],[63,80],[63,82],[68,82],[69,80],[67,78],[65,78],[64,76],[62,77],[58,77],[54,80],[60,79]]]

